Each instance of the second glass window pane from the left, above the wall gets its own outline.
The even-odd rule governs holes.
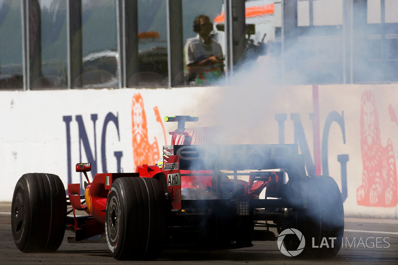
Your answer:
[[[33,1],[34,2],[34,1]],[[33,45],[31,43],[31,57],[40,56],[40,59],[31,64],[30,88],[67,88],[68,60],[67,60],[67,19],[66,1],[63,0],[38,0],[36,6],[32,3],[30,17],[33,21],[33,30],[40,27],[41,37]],[[38,16],[40,15],[40,16]],[[31,39],[31,42],[34,39]],[[36,50],[41,49],[41,50]]]

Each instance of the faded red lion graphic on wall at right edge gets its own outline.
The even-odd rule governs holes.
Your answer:
[[[394,207],[397,205],[397,169],[393,143],[389,138],[387,145],[382,146],[375,96],[370,91],[362,95],[360,122],[363,172],[357,204]]]

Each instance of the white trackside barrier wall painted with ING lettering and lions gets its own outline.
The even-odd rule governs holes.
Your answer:
[[[298,143],[308,175],[339,184],[346,216],[397,218],[398,85],[0,91],[0,201],[29,172],[84,181],[153,164],[176,123],[221,125],[220,143]],[[89,175],[92,177],[91,175]],[[84,177],[83,177],[84,178]]]

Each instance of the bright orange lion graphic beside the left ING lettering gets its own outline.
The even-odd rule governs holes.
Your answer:
[[[154,109],[156,120],[159,121],[159,109]],[[158,117],[159,116],[159,117]],[[135,167],[142,164],[155,165],[159,159],[158,140],[154,137],[153,143],[148,140],[148,126],[144,109],[144,101],[140,93],[133,96],[131,106],[133,157]],[[164,130],[163,124],[162,128]]]

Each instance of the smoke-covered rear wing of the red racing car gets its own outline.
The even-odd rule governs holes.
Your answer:
[[[163,155],[179,156],[181,170],[286,169],[305,176],[304,158],[296,144],[168,145],[163,146]]]

